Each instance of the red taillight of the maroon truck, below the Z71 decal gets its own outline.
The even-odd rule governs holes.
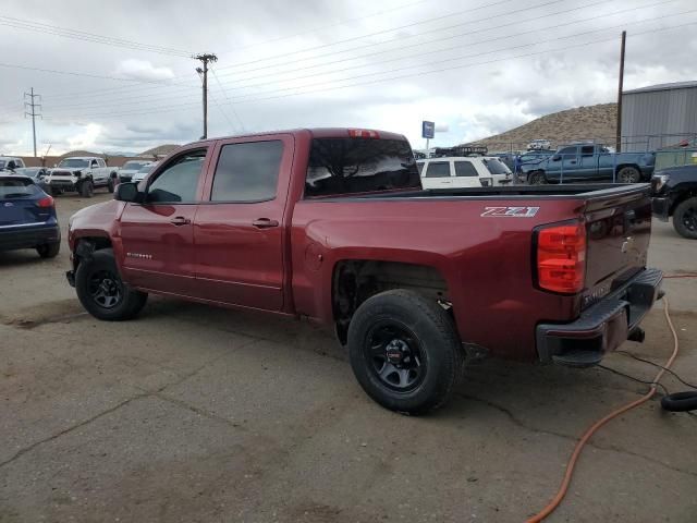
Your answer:
[[[586,277],[586,226],[551,226],[537,231],[537,282],[565,294],[583,290]]]

